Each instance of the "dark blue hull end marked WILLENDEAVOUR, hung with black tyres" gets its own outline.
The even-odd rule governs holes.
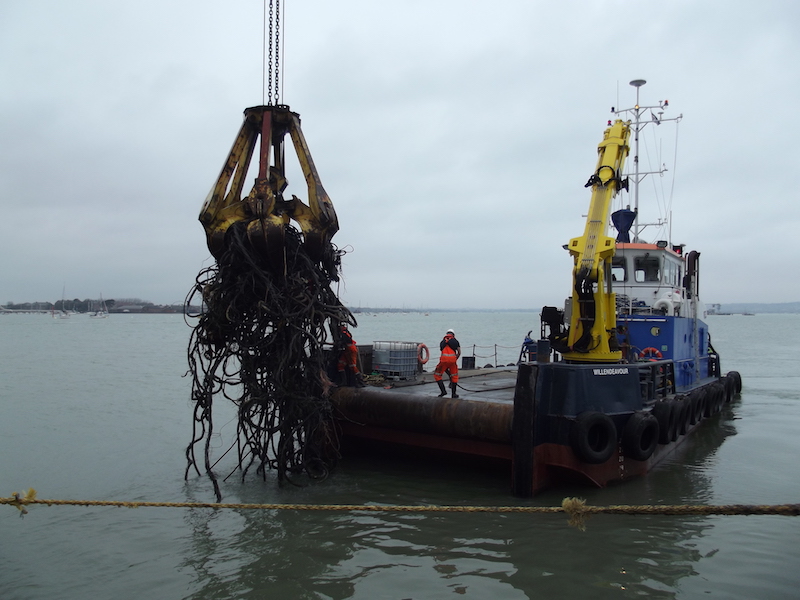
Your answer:
[[[596,486],[643,475],[741,390],[738,373],[674,391],[674,363],[519,366],[513,491],[564,479]]]

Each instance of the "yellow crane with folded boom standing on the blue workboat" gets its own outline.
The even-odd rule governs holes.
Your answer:
[[[597,146],[597,169],[586,187],[592,199],[586,228],[570,240],[574,260],[572,303],[565,360],[618,362],[622,352],[616,342],[616,298],[611,289],[611,257],[615,242],[608,236],[611,201],[627,180],[620,178],[630,147],[630,123],[617,119],[605,130]]]

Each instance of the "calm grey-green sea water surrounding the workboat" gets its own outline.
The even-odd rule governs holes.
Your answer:
[[[479,365],[516,361],[538,331],[536,313],[358,317],[362,344],[435,347],[453,327]],[[800,315],[712,317],[710,327],[723,370],[742,374],[741,397],[646,477],[521,501],[506,473],[365,457],[309,487],[234,476],[224,500],[800,501]],[[0,495],[33,487],[40,498],[213,501],[205,478],[183,479],[188,335],[172,315],[0,316]],[[224,449],[231,411],[215,423]],[[792,517],[596,516],[581,532],[563,516],[35,506],[22,519],[0,506],[0,597],[783,599],[797,597],[798,540]]]

